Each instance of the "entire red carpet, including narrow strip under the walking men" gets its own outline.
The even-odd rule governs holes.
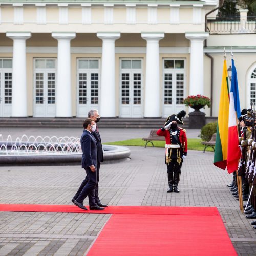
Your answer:
[[[0,211],[113,214],[89,256],[237,255],[216,207],[0,204]]]

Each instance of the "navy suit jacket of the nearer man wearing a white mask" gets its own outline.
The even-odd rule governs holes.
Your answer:
[[[83,130],[81,139],[82,148],[82,168],[88,168],[94,165],[97,167],[97,142],[93,135],[87,131]]]

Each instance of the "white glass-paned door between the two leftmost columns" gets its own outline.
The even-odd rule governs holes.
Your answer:
[[[55,117],[56,60],[34,60],[34,117]]]

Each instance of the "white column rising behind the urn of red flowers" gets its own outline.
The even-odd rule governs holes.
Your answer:
[[[190,40],[190,76],[189,95],[204,94],[204,40],[209,36],[206,32],[185,34]]]

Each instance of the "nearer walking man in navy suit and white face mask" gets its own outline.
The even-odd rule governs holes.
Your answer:
[[[84,185],[84,181],[80,185],[76,195],[72,199],[72,202],[83,210],[87,208],[83,205],[83,200],[88,196],[90,210],[104,210],[95,202],[95,186],[97,184],[97,141],[92,135],[96,130],[96,124],[93,119],[85,119],[83,121],[83,134],[81,136],[81,148],[82,148],[82,168],[86,170],[87,182]]]

